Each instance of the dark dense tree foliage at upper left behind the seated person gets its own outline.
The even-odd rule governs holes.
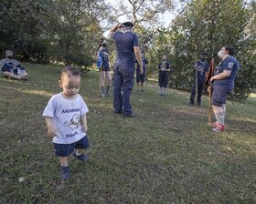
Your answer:
[[[38,63],[91,65],[102,33],[99,20],[107,14],[104,1],[3,0],[0,4],[3,53],[12,49],[19,58]]]

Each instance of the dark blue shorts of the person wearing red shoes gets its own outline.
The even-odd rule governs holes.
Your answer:
[[[212,91],[212,105],[221,107],[222,104],[226,104],[226,99],[230,93],[230,89],[227,87],[213,87]]]

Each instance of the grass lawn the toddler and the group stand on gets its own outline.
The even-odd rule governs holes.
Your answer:
[[[0,203],[256,203],[256,97],[228,103],[227,127],[208,127],[208,99],[133,90],[136,118],[97,97],[99,73],[82,76],[90,161],[70,157],[62,181],[42,111],[59,93],[59,66],[27,66],[28,81],[0,78]]]

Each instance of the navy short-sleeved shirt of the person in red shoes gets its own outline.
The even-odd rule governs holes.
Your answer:
[[[235,87],[235,78],[239,69],[240,64],[238,60],[234,56],[227,56],[224,60],[222,60],[221,63],[219,63],[219,66],[217,66],[214,76],[223,73],[224,70],[229,70],[231,73],[227,78],[214,80],[213,87],[222,86],[233,89]]]

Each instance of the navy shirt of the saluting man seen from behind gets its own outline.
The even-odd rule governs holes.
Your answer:
[[[116,66],[121,65],[133,72],[134,50],[133,46],[139,46],[138,37],[131,31],[117,31],[112,34],[116,46]]]

